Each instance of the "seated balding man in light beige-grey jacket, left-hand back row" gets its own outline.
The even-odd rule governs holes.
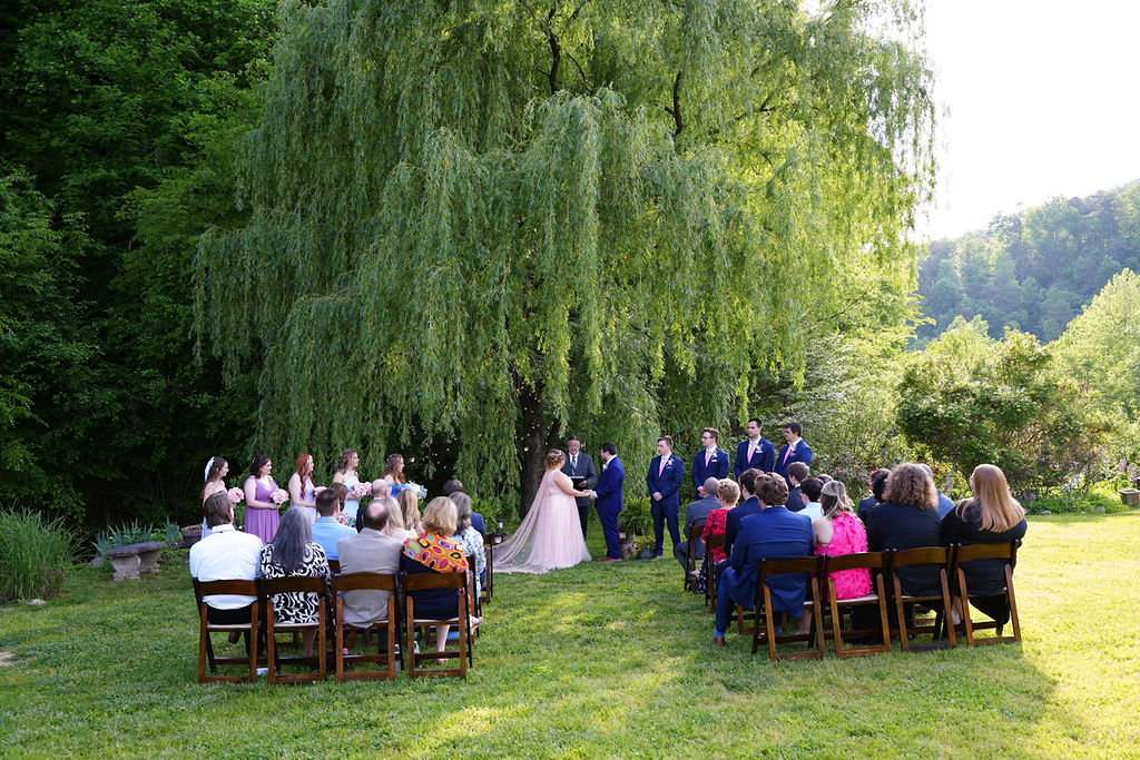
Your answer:
[[[341,556],[341,573],[381,573],[396,574],[400,572],[400,554],[404,542],[384,532],[394,504],[391,497],[374,499],[366,505],[358,522],[364,524],[360,534],[350,534],[336,542]],[[344,591],[344,622],[357,628],[367,628],[375,622],[388,620],[388,598],[390,591],[359,589]]]

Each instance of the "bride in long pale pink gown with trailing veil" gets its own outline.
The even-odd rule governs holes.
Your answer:
[[[575,497],[592,492],[575,490],[570,476],[562,472],[564,461],[565,455],[557,449],[546,455],[546,474],[530,512],[519,530],[495,547],[495,572],[545,573],[589,562]]]

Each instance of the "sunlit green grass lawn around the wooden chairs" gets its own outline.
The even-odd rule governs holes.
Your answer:
[[[1140,757],[1140,515],[1031,521],[1019,646],[771,663],[711,646],[676,562],[589,563],[497,577],[466,681],[199,686],[179,556],[84,567],[0,607],[0,753]]]

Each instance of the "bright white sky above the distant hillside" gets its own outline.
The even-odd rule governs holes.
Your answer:
[[[928,0],[938,186],[956,237],[1053,196],[1140,179],[1140,2]]]

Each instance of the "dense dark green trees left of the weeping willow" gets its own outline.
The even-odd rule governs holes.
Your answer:
[[[233,124],[272,8],[5,5],[0,498],[160,518],[244,446],[251,384],[192,361],[189,261],[236,213]]]

